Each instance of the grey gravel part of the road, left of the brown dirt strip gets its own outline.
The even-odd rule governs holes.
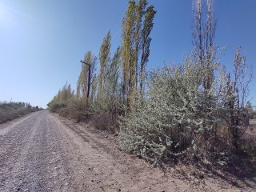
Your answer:
[[[35,113],[0,135],[0,191],[74,191],[62,135],[47,114]]]

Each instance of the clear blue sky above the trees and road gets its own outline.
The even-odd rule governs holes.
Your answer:
[[[179,63],[192,50],[192,2],[151,0],[154,19],[149,68]],[[62,86],[75,88],[86,51],[98,56],[102,39],[112,33],[112,54],[121,45],[125,0],[0,0],[0,101],[46,107]],[[256,61],[256,1],[215,0],[216,42],[229,45],[221,61],[231,70],[237,46]],[[256,77],[255,77],[256,78]],[[250,96],[256,105],[256,81]]]

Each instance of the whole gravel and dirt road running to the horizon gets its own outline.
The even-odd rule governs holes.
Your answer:
[[[0,125],[0,191],[200,190],[46,110]]]

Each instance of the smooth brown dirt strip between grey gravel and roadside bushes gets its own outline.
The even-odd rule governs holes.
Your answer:
[[[59,127],[66,132],[66,141],[75,143],[75,146],[68,146],[73,155],[71,164],[77,169],[77,182],[86,182],[88,191],[185,191],[179,190],[178,179],[122,153],[106,138],[99,138],[85,127],[56,114],[52,118],[55,122],[61,121]],[[184,182],[181,186],[190,189]]]

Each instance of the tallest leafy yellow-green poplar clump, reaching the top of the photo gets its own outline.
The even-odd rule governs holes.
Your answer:
[[[156,11],[154,6],[147,7],[147,4],[146,0],[139,0],[137,4],[130,0],[122,20],[122,95],[128,107],[138,90],[138,81],[141,86],[143,84],[142,74],[150,54],[150,32]]]

